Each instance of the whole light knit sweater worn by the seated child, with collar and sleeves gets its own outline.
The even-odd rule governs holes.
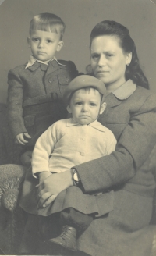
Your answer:
[[[64,172],[75,165],[109,155],[116,140],[111,130],[94,121],[81,125],[73,119],[54,123],[37,140],[32,172]]]

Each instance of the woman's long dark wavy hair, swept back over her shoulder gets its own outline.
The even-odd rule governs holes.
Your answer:
[[[95,37],[110,35],[119,38],[119,44],[123,52],[132,52],[132,60],[129,66],[126,66],[126,80],[133,80],[133,82],[141,87],[149,89],[149,84],[146,76],[140,68],[139,59],[137,56],[137,49],[133,39],[129,35],[129,30],[112,20],[104,20],[97,23],[90,34],[90,47]]]

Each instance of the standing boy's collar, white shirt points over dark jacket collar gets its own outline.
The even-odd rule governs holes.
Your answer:
[[[55,63],[53,62],[55,61]],[[52,63],[53,62],[53,63]],[[48,66],[51,66],[51,63],[53,64],[52,66],[66,66],[63,65],[62,63],[58,62],[58,60],[54,57],[53,59],[50,59],[49,62],[42,62],[40,60],[37,60],[33,55],[30,55],[30,58],[27,62],[27,65],[25,69],[30,69],[32,71],[36,70],[39,66],[41,66],[41,70],[45,71],[48,69]],[[56,64],[56,65],[55,65]]]

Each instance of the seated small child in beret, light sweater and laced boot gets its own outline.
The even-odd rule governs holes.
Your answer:
[[[112,131],[97,122],[98,116],[106,107],[105,93],[105,85],[101,80],[87,75],[76,77],[66,87],[63,98],[72,118],[59,120],[50,126],[34,147],[32,172],[34,177],[39,177],[39,184],[51,173],[53,175],[56,172],[65,172],[75,165],[115,151],[116,140]],[[37,204],[33,209],[30,203],[32,196],[27,197],[30,180],[27,179],[28,183],[23,185],[20,206],[31,214],[42,216],[61,212],[62,233],[56,238],[51,238],[49,242],[76,251],[76,236],[87,229],[95,216],[98,218],[108,213],[108,208],[106,209],[105,205],[103,209],[98,208],[99,193],[83,194],[77,172],[75,169],[72,169],[72,172],[73,185],[76,186],[58,194],[53,204],[47,207],[39,205],[37,211]],[[103,195],[112,197],[112,194]],[[44,199],[46,201],[48,198]]]

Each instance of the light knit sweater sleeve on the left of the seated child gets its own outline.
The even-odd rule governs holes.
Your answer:
[[[32,172],[34,177],[37,172],[50,172],[49,156],[55,148],[57,142],[56,123],[46,130],[41,137],[38,138],[32,155]]]

